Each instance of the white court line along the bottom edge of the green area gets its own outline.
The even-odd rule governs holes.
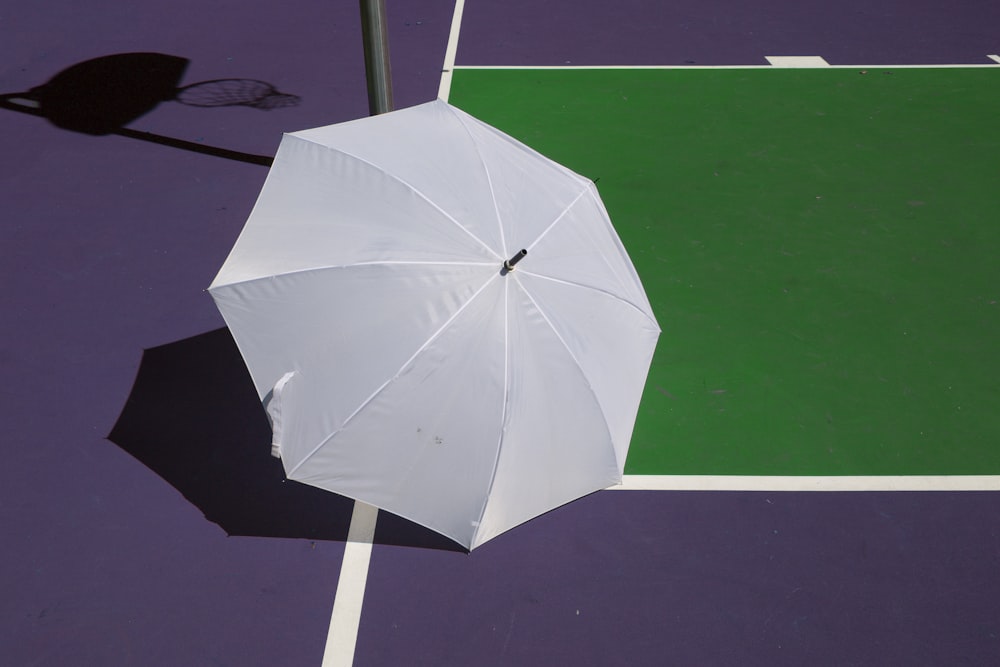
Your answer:
[[[625,475],[609,491],[1000,491],[1000,475]]]

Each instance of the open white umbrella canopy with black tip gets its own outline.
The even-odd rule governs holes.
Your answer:
[[[589,179],[443,101],[285,135],[209,290],[289,479],[469,549],[621,480],[635,268]]]

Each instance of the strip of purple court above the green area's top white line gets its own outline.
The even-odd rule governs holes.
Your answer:
[[[836,65],[986,64],[1000,5],[839,2],[470,2],[462,65],[764,65],[822,56]]]

